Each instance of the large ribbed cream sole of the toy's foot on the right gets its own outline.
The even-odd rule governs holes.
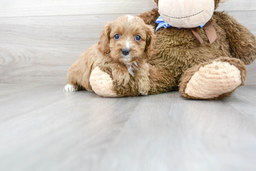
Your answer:
[[[235,90],[242,84],[240,70],[228,62],[213,61],[200,67],[191,77],[185,93],[190,97],[211,99]]]

